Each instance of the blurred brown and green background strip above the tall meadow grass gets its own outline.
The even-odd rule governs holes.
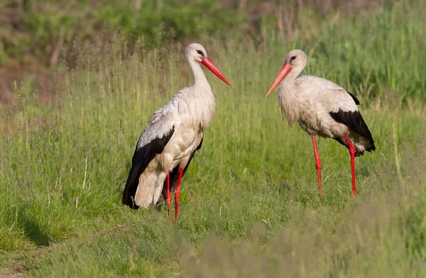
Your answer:
[[[383,18],[386,10],[396,9],[401,14],[395,21],[406,21],[408,16],[413,18],[413,6],[425,5],[391,0],[3,0],[0,102],[11,102],[15,81],[19,85],[31,77],[35,85],[43,86],[48,68],[60,59],[73,67],[73,50],[82,41],[102,49],[114,32],[121,33],[120,40],[129,48],[136,41],[147,48],[177,41],[186,45],[202,35],[226,36],[231,32],[249,36],[261,45],[271,30],[287,42],[298,39],[312,46],[326,39],[324,28],[334,28],[344,19],[368,20],[371,14],[382,14]],[[419,22],[420,13],[414,15]],[[283,55],[287,50],[283,49]]]

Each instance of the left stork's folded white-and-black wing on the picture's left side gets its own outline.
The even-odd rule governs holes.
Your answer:
[[[163,114],[163,107],[154,112],[148,126],[139,137],[138,144],[131,161],[131,170],[124,188],[122,203],[130,208],[137,208],[133,202],[139,184],[139,176],[145,171],[148,164],[161,154],[173,137],[176,125],[173,113]]]

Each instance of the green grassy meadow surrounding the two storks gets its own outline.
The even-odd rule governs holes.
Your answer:
[[[183,179],[175,225],[163,205],[131,212],[120,201],[152,112],[192,82],[185,46],[82,46],[77,68],[57,69],[58,107],[35,105],[31,84],[21,86],[14,110],[1,107],[1,267],[34,277],[424,276],[424,42],[419,9],[403,3],[308,21],[293,41],[202,36],[234,89],[207,73],[217,114]],[[317,196],[310,138],[264,97],[292,48],[307,50],[304,74],[361,99],[377,150],[356,159],[357,200],[348,151],[326,139]]]

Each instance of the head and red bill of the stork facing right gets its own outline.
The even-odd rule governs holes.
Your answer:
[[[205,48],[200,45],[200,43],[191,43],[185,49],[185,58],[188,65],[191,65],[192,61],[202,63],[206,68],[208,68],[214,75],[219,77],[220,80],[225,82],[227,85],[231,86],[231,82],[226,79],[226,77],[220,72],[219,68],[210,60],[207,56],[207,51]]]

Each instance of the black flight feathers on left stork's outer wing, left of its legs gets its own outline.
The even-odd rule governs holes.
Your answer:
[[[123,199],[121,200],[124,205],[129,205],[129,207],[133,209],[138,208],[138,205],[133,202],[133,199],[136,194],[136,189],[138,188],[139,176],[141,176],[155,156],[163,152],[165,145],[168,144],[168,141],[170,141],[170,138],[172,138],[174,133],[175,127],[173,126],[172,130],[170,130],[167,134],[164,134],[162,138],[156,137],[141,148],[138,148],[136,145],[136,150],[133,154],[133,159],[131,160],[129,177],[127,178]]]

